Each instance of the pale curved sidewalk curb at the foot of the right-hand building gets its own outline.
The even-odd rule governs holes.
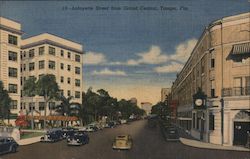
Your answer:
[[[196,147],[196,148],[250,152],[250,149],[247,149],[244,147],[221,146],[221,145],[205,143],[205,142],[196,141],[196,140],[190,140],[190,139],[186,139],[186,138],[180,138],[180,141],[184,145],[192,146],[192,147]]]

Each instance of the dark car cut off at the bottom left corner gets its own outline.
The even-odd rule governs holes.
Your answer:
[[[18,146],[12,137],[0,137],[0,154],[16,152]]]

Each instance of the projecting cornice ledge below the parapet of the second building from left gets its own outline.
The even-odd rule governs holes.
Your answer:
[[[49,45],[60,47],[60,48],[70,50],[70,51],[73,51],[73,52],[76,52],[76,53],[79,53],[79,54],[84,54],[84,52],[82,50],[78,50],[78,49],[75,49],[75,48],[72,48],[72,47],[69,47],[69,46],[54,42],[52,40],[48,40],[48,39],[40,40],[40,41],[37,41],[37,42],[34,42],[34,43],[23,45],[23,46],[21,46],[21,49],[28,49],[28,48],[35,47],[35,46],[38,46],[38,45],[43,45],[43,44],[49,44]]]

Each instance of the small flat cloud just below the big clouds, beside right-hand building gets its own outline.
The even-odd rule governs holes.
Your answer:
[[[183,67],[183,64],[177,62],[171,62],[169,65],[155,67],[154,70],[157,73],[175,73],[179,72]]]

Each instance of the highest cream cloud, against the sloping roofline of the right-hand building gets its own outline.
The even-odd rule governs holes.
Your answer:
[[[189,39],[183,43],[180,43],[175,48],[175,53],[170,56],[171,60],[176,60],[179,62],[186,62],[192,53],[195,44],[197,43],[197,39]]]

